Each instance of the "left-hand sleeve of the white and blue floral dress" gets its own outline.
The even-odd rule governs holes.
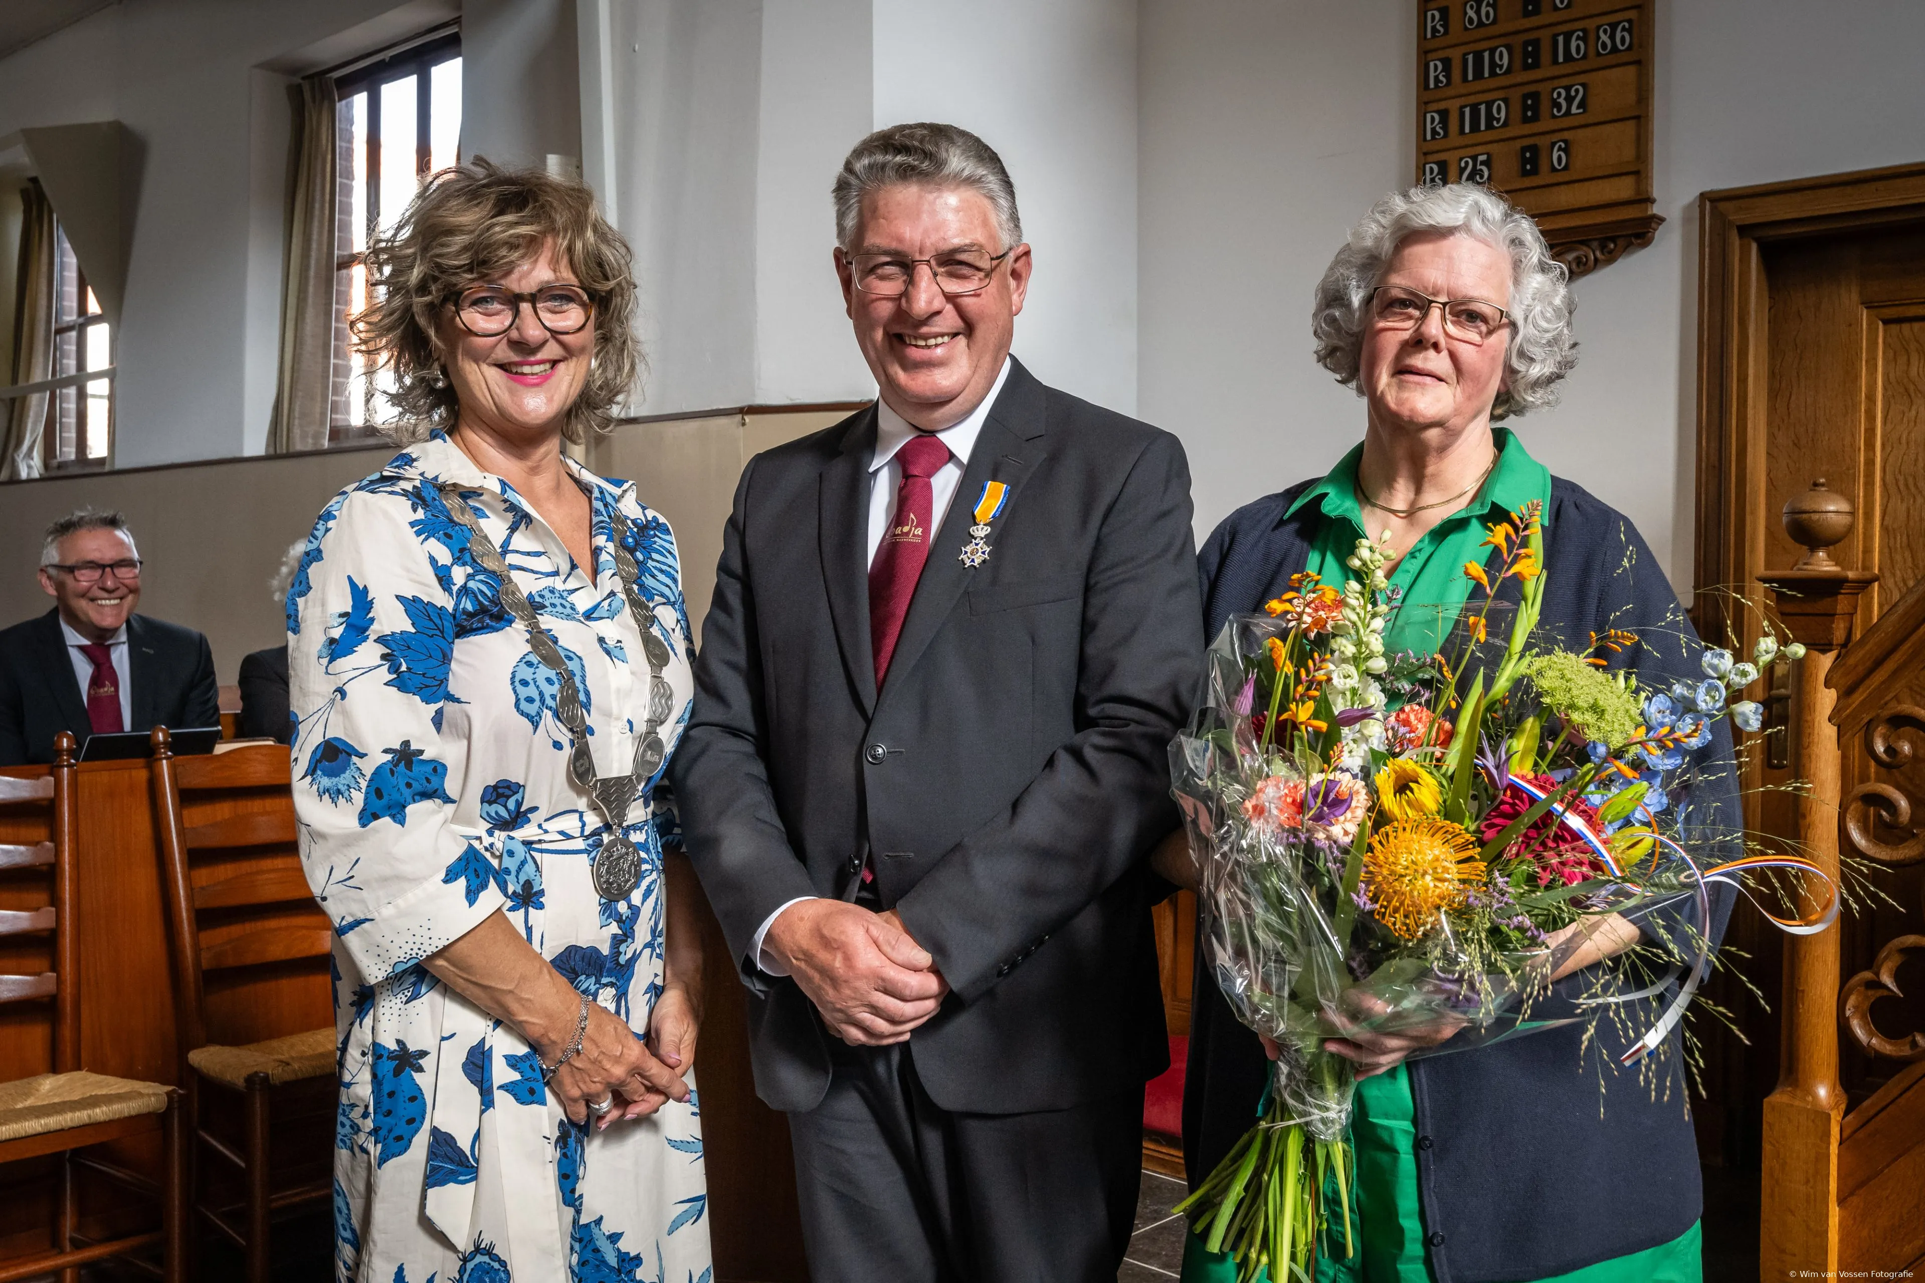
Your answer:
[[[308,883],[366,983],[506,902],[500,852],[456,825],[443,739],[454,602],[398,492],[348,492],[316,523],[287,602],[295,814]]]

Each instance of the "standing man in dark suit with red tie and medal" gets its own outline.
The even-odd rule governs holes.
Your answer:
[[[814,1277],[1115,1279],[1167,1066],[1145,856],[1201,673],[1188,465],[1009,356],[1030,246],[980,138],[870,135],[835,204],[880,400],[743,471],[687,850]]]

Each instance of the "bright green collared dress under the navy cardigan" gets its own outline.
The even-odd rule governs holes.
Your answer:
[[[1390,650],[1436,650],[1442,621],[1471,596],[1465,562],[1484,564],[1486,523],[1498,521],[1530,500],[1550,504],[1552,475],[1525,454],[1507,429],[1494,429],[1498,465],[1476,496],[1438,521],[1398,564],[1390,587],[1398,600],[1436,604],[1448,610],[1394,612],[1384,629]],[[1363,446],[1344,456],[1330,475],[1303,491],[1290,506],[1297,512],[1319,504],[1324,521],[1311,541],[1305,569],[1324,583],[1342,585],[1349,575],[1344,560],[1365,539],[1357,504],[1357,460]],[[1405,1066],[1357,1083],[1349,1139],[1357,1154],[1355,1212],[1349,1260],[1317,1256],[1317,1283],[1432,1283],[1424,1256],[1424,1220],[1417,1195],[1417,1106]],[[1251,1116],[1255,1121],[1255,1116]],[[1332,1193],[1330,1204],[1336,1206]],[[1236,1277],[1228,1254],[1211,1254],[1195,1235],[1184,1245],[1184,1283],[1230,1283]],[[1263,1277],[1263,1275],[1259,1275]],[[1698,1225],[1659,1246],[1617,1256],[1542,1283],[1698,1283],[1702,1252]]]

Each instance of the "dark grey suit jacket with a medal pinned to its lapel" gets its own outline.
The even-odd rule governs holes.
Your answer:
[[[1149,848],[1203,637],[1190,469],[1168,433],[1013,364],[930,546],[878,696],[876,414],[749,462],[672,779],[749,985],[757,1091],[808,1110],[834,1037],[749,958],[795,896],[876,891],[953,989],[911,1039],[930,1098],[980,1114],[1140,1089],[1168,1062]],[[970,510],[1009,485],[968,569]]]

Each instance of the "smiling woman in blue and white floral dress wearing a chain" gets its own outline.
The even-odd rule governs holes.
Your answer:
[[[335,923],[335,1270],[708,1283],[699,891],[668,523],[562,454],[637,369],[579,183],[475,162],[368,256],[406,448],[287,596],[295,806]]]

